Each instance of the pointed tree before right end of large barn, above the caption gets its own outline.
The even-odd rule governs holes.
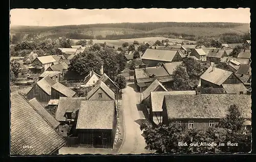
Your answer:
[[[219,127],[227,128],[232,131],[239,131],[242,129],[243,122],[244,121],[238,106],[233,104],[228,108],[228,114],[226,117],[220,120]]]

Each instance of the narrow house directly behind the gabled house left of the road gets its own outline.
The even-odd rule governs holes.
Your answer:
[[[122,99],[122,93],[120,93],[120,89],[118,86],[113,82],[113,80],[106,75],[105,73],[99,78],[106,86],[108,86],[114,93],[116,99]],[[98,83],[97,83],[98,84]]]

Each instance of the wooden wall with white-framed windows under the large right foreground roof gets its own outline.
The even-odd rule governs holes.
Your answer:
[[[185,130],[188,130],[188,121],[194,121],[194,128],[197,128],[198,130],[202,130],[204,132],[207,131],[209,126],[209,121],[213,120],[214,125],[216,126],[219,123],[219,119],[177,119],[177,120],[169,120],[169,123],[181,121],[181,124],[185,125]]]

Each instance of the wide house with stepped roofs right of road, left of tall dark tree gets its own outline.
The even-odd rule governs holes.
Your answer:
[[[166,86],[166,88],[172,87],[173,78],[164,67],[145,67],[141,69],[135,69],[134,83],[137,86],[138,91],[144,91],[155,79]]]

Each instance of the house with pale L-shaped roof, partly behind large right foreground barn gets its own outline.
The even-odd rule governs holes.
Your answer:
[[[154,91],[146,102],[147,114],[151,121],[160,124],[163,121],[162,105],[165,95],[195,95],[196,91]]]

